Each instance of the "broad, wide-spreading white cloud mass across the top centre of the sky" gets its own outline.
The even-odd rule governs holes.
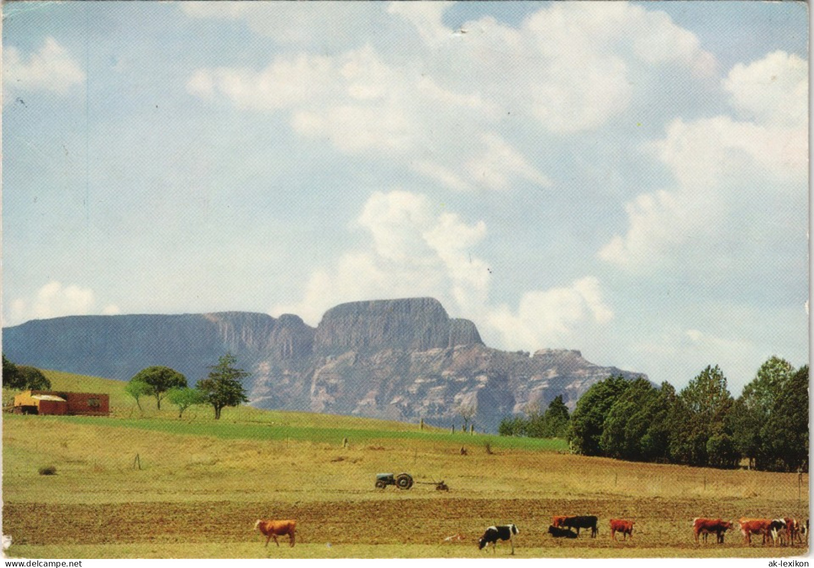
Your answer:
[[[692,33],[632,4],[555,2],[517,28],[484,17],[464,24],[466,33],[445,27],[448,7],[394,2],[381,14],[418,32],[409,36],[414,56],[370,44],[332,55],[284,52],[260,70],[198,69],[187,90],[284,113],[304,138],[391,160],[449,190],[507,190],[553,185],[532,159],[539,140],[510,139],[507,117],[554,135],[597,129],[628,109],[634,84],[662,81],[663,66],[689,75],[715,67]],[[309,7],[295,8],[310,21]],[[259,25],[249,17],[256,7],[184,9]]]

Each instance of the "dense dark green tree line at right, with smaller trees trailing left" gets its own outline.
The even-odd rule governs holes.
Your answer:
[[[547,437],[550,429],[529,429],[545,414],[505,418],[499,433]],[[572,451],[586,456],[720,468],[746,459],[758,470],[808,471],[808,365],[772,356],[737,399],[718,365],[679,392],[610,376],[580,397],[565,430]]]

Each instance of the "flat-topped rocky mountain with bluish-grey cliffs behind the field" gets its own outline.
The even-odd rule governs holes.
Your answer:
[[[120,380],[167,365],[196,382],[228,351],[252,371],[245,386],[259,408],[449,425],[475,406],[476,427],[492,431],[529,402],[545,409],[563,395],[573,408],[610,374],[641,375],[578,351],[487,347],[473,322],[431,298],[340,304],[317,328],[291,314],[75,316],[4,328],[2,339],[15,363]]]

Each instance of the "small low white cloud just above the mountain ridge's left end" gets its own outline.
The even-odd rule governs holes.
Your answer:
[[[120,313],[120,309],[114,304],[108,304],[101,310],[96,306],[96,297],[90,288],[75,284],[63,286],[62,282],[51,281],[31,297],[11,301],[11,322],[14,325],[49,317]]]

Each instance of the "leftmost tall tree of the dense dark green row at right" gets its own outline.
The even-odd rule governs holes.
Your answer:
[[[611,375],[592,385],[576,403],[571,414],[568,442],[575,452],[602,456],[602,430],[610,407],[627,391],[630,383],[621,375]]]

